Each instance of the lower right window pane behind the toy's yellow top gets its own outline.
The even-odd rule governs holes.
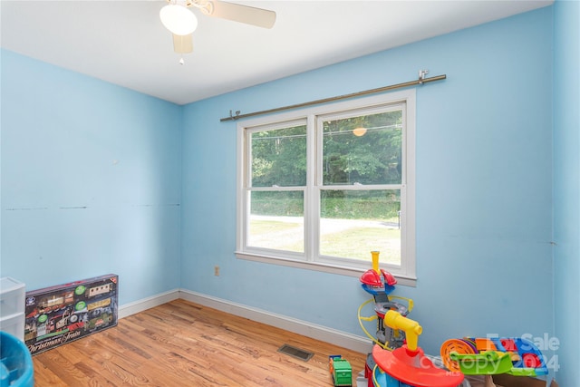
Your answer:
[[[320,254],[401,265],[401,191],[321,191]]]

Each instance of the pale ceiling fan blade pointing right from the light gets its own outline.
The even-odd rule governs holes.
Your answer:
[[[211,2],[213,10],[209,16],[221,19],[233,20],[234,22],[256,25],[262,28],[272,28],[275,23],[275,12],[267,9],[255,8],[248,5],[227,3],[219,0]]]

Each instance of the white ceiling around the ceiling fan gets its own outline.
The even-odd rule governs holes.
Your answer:
[[[185,104],[551,5],[510,1],[233,1],[275,11],[272,29],[201,15],[173,52],[165,0],[2,0],[2,47]]]

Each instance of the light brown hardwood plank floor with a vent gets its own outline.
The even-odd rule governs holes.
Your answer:
[[[277,352],[290,344],[314,356]],[[356,353],[246,318],[175,300],[73,343],[34,355],[35,386],[332,386],[328,355]]]

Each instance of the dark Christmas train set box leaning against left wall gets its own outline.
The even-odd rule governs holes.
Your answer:
[[[26,292],[24,343],[42,353],[117,324],[119,276],[110,274]]]

